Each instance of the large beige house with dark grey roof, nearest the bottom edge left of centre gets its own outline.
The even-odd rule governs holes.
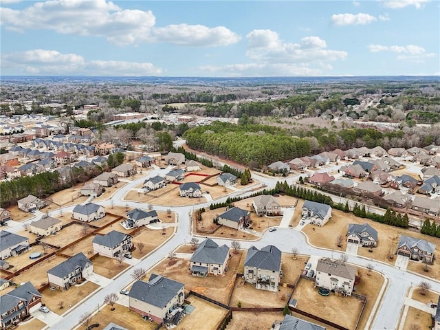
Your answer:
[[[184,303],[184,284],[161,275],[151,274],[148,282],[133,283],[128,296],[129,308],[132,311],[153,318],[157,324],[162,322],[177,324],[175,320],[179,318],[176,314],[180,311],[175,307]]]

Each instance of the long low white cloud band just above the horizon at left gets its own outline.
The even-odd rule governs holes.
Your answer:
[[[151,76],[162,69],[151,63],[126,61],[85,61],[76,54],[61,54],[55,50],[28,50],[1,55],[1,68],[22,74],[85,74],[102,76]]]

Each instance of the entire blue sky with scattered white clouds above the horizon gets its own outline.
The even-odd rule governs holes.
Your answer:
[[[1,75],[439,75],[439,4],[0,0]]]

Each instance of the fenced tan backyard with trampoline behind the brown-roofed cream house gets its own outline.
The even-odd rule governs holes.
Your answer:
[[[334,294],[320,296],[314,284],[314,281],[303,278],[298,281],[298,287],[294,292],[294,298],[298,300],[296,308],[317,316],[325,316],[327,320],[347,329],[354,329],[362,309],[362,301],[352,296],[340,297]],[[341,318],[341,315],[344,315],[344,318]],[[358,329],[364,328],[358,327]]]

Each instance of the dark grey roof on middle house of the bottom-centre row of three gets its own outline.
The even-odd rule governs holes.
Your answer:
[[[245,267],[278,271],[281,267],[281,251],[274,245],[267,245],[261,250],[251,246],[246,254]]]

